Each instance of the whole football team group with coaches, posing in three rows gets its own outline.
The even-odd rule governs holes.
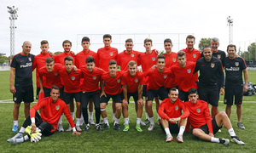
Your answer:
[[[187,48],[177,53],[172,52],[172,40],[166,38],[164,54],[152,49],[153,42],[149,38],[144,40],[144,53],[132,49],[131,38],[126,39],[126,50],[121,53],[111,47],[111,42],[112,36],[104,35],[104,47],[96,53],[90,50],[90,38],[83,37],[81,45],[84,49],[75,54],[71,51],[72,42],[65,40],[62,43],[64,52],[55,55],[49,52],[49,42],[43,40],[42,51],[36,56],[30,54],[31,42],[24,42],[22,52],[15,54],[10,65],[10,92],[15,101],[12,131],[18,132],[22,101],[26,119],[20,131],[7,141],[13,144],[28,139],[37,142],[41,135],[49,136],[56,130],[64,131],[61,123],[63,113],[69,122],[67,131],[73,131],[73,134],[87,132],[93,124],[97,131],[108,130],[110,125],[106,106],[111,98],[113,128],[121,130],[119,119],[123,114],[123,131],[127,132],[130,129],[128,105],[133,97],[137,132],[143,132],[141,126],[147,124],[148,131],[154,130],[154,100],[158,124],[166,133],[166,142],[171,142],[172,133],[177,133],[177,141],[183,143],[183,133],[191,127],[192,133],[199,139],[229,144],[230,139],[214,137],[224,126],[230,133],[231,141],[244,144],[230,123],[234,101],[237,126],[245,128],[241,122],[241,104],[243,93],[247,91],[247,65],[236,54],[235,45],[228,45],[226,56],[224,51],[218,50],[219,41],[216,37],[212,38],[210,46],[200,52],[194,48],[195,37],[189,35],[186,37]],[[142,71],[138,70],[139,65]],[[34,100],[34,69],[37,69],[38,103],[30,109],[30,103]],[[219,94],[224,94],[225,112],[218,111]],[[211,105],[211,113],[208,105]],[[143,108],[146,116],[144,122]],[[96,122],[93,120],[94,110]],[[24,136],[25,132],[28,134]]]

